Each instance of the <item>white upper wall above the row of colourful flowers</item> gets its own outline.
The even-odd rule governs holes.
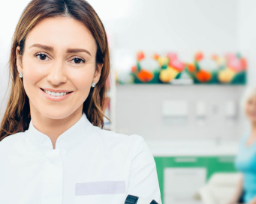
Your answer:
[[[237,49],[237,0],[131,0],[123,12],[122,18],[104,20],[118,48]]]

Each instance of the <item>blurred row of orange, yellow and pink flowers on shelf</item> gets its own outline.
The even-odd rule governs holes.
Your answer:
[[[134,84],[170,84],[174,79],[182,79],[183,73],[194,84],[245,84],[247,63],[240,54],[224,56],[212,55],[206,58],[202,52],[194,55],[192,63],[179,60],[176,53],[152,55],[153,68],[149,69],[144,52],[137,52],[137,63],[131,67],[131,83]],[[116,76],[118,81],[118,76]],[[181,80],[179,80],[181,81]]]

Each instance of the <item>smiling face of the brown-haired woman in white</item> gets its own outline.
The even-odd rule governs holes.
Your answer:
[[[63,119],[82,114],[91,84],[101,75],[96,51],[94,37],[76,19],[60,16],[35,25],[26,37],[23,57],[17,58],[32,116]]]

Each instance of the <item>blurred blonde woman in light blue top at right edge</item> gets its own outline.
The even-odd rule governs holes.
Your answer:
[[[256,87],[245,91],[243,105],[251,130],[239,144],[236,168],[242,176],[230,203],[256,204]]]

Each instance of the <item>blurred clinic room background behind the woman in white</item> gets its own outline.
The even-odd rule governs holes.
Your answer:
[[[11,38],[28,3],[5,1],[0,7],[1,118]],[[249,129],[242,94],[256,85],[256,1],[89,3],[110,45],[111,123],[106,120],[105,129],[143,136],[155,157],[164,204],[213,202],[200,189],[215,174],[236,173],[239,139]],[[218,192],[215,197],[229,199]]]

